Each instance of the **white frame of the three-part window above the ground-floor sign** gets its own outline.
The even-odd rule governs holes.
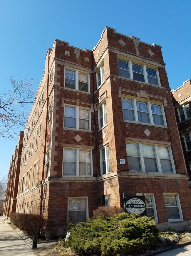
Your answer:
[[[144,143],[144,142],[141,143],[141,142],[134,142],[134,141],[126,141],[126,144],[128,144],[128,143],[130,143],[130,144],[137,144],[138,145],[138,153],[139,153],[138,157],[139,157],[139,161],[140,161],[140,169],[141,169],[142,172],[147,172],[145,170],[144,156],[143,156],[143,150],[142,150],[142,144],[143,144],[143,145],[153,146],[154,154],[155,154],[156,167],[157,167],[157,171],[155,173],[158,173],[158,172],[160,172],[160,173],[176,173],[174,159],[173,159],[173,156],[172,156],[172,150],[171,150],[170,146],[163,145],[163,144],[148,144],[148,143]],[[160,156],[159,156],[159,152],[158,152],[158,147],[168,148],[168,152],[169,152],[169,156],[170,156],[170,161],[171,161],[171,166],[172,166],[172,172],[162,172],[162,168],[161,168],[161,164],[160,164]],[[131,171],[135,171],[136,172],[136,170],[131,170]]]

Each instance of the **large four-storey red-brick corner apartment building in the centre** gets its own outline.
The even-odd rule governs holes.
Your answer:
[[[24,131],[16,212],[62,226],[101,205],[123,207],[123,193],[144,193],[160,229],[190,227],[189,175],[161,46],[109,27],[93,50],[55,40],[37,99]]]

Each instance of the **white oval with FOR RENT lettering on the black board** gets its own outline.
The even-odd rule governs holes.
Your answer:
[[[125,210],[128,213],[143,214],[146,209],[145,202],[139,198],[131,198],[125,203]]]

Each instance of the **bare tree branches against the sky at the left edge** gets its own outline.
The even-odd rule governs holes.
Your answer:
[[[12,138],[26,125],[31,104],[36,101],[33,79],[10,77],[11,89],[0,91],[0,138]]]

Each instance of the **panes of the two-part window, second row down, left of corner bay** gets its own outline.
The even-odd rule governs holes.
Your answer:
[[[77,106],[65,106],[64,127],[90,131],[90,110]]]

